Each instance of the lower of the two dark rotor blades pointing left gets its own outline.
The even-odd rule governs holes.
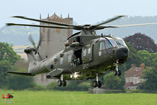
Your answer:
[[[16,24],[16,23],[7,23],[6,25],[7,25],[7,26],[30,26],[30,27],[44,27],[44,28],[74,29],[73,27],[46,26],[46,25],[31,25],[31,24]]]

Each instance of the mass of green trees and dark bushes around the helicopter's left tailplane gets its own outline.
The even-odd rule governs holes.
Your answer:
[[[27,68],[17,67],[15,63],[20,58],[7,43],[0,43],[0,88],[21,90],[33,87],[33,78],[13,74],[7,74],[13,67],[17,71],[25,71]]]

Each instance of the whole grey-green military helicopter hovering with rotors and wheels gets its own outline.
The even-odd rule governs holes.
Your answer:
[[[28,56],[28,73],[8,72],[26,76],[34,76],[47,73],[48,79],[57,78],[58,86],[66,86],[66,80],[94,79],[93,87],[101,87],[102,83],[98,77],[107,70],[114,71],[114,75],[121,75],[118,69],[127,61],[129,49],[124,40],[113,35],[97,35],[96,30],[105,28],[119,28],[130,26],[151,25],[157,23],[132,24],[132,25],[109,25],[114,20],[124,17],[119,15],[96,25],[72,25],[47,20],[38,20],[24,16],[13,16],[51,25],[31,25],[7,23],[7,26],[31,26],[44,28],[74,29],[80,32],[71,35],[65,42],[65,48],[52,57],[42,59],[38,51],[40,44],[36,47],[32,37],[29,39],[34,47],[28,47],[24,52]],[[103,69],[101,69],[103,68]]]

